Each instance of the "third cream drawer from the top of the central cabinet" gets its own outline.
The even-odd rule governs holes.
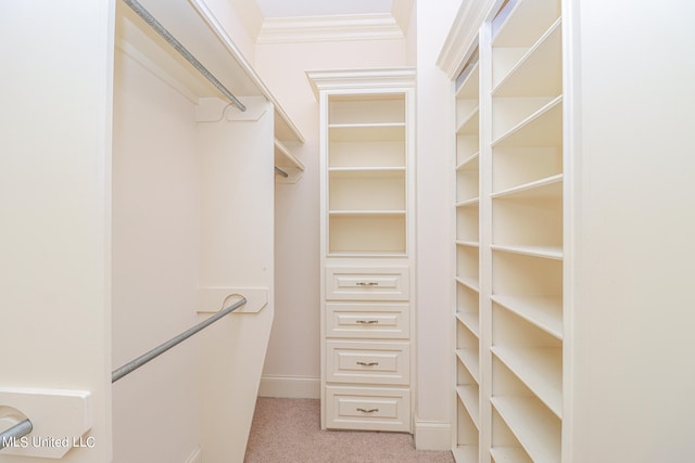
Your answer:
[[[408,385],[408,343],[327,340],[326,382]]]

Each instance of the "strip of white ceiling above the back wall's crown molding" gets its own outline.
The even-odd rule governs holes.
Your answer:
[[[256,0],[265,17],[391,13],[393,0]]]

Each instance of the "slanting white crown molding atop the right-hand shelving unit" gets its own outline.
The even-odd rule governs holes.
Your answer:
[[[460,72],[464,60],[478,41],[480,26],[500,3],[501,0],[467,0],[462,3],[437,60],[437,65],[450,79],[455,79]]]

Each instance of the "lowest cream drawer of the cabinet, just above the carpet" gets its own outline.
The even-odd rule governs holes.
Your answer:
[[[326,427],[410,432],[410,390],[326,387]]]

